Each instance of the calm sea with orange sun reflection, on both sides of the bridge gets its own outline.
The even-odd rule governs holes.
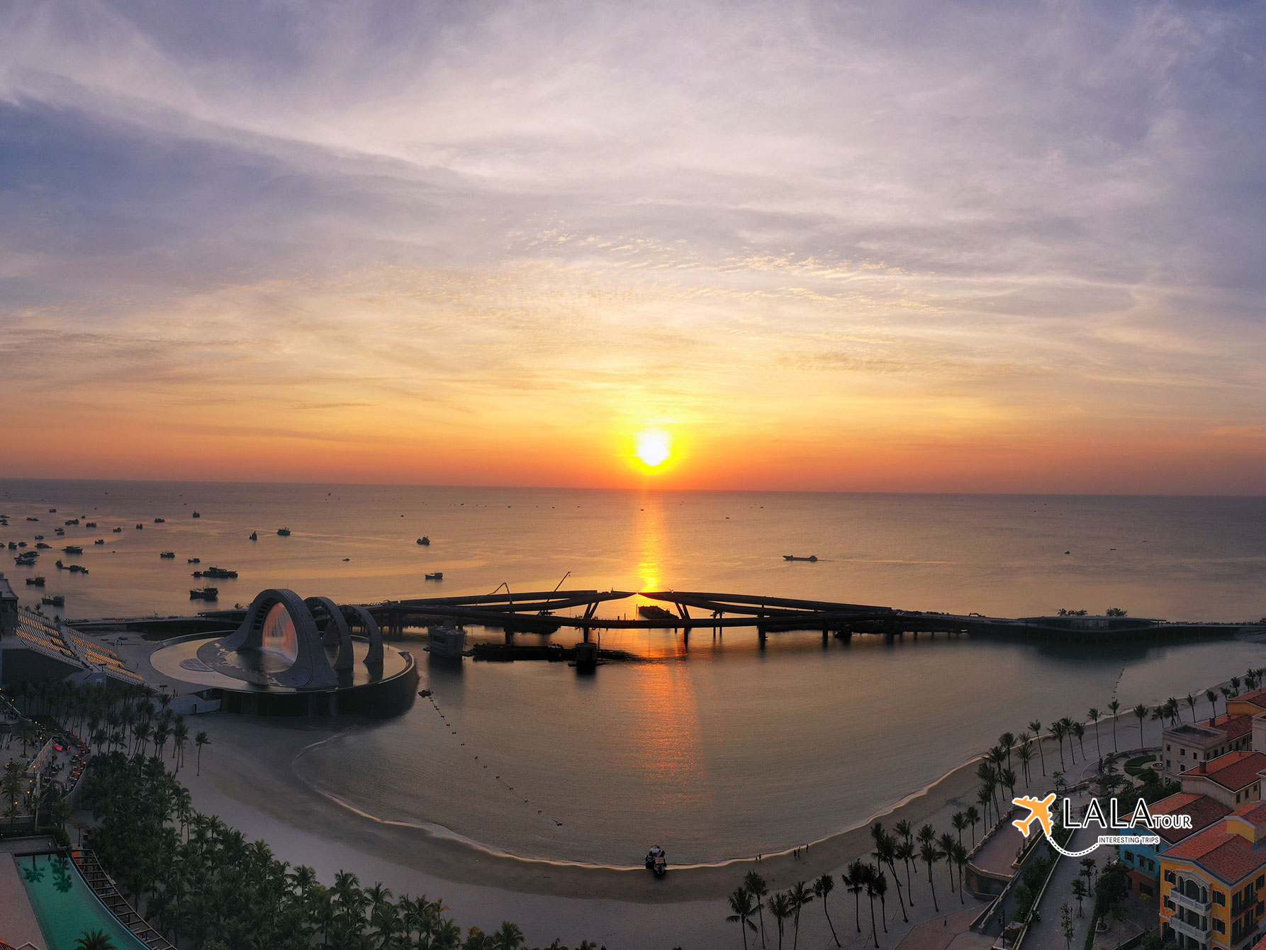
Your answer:
[[[1266,613],[1262,498],[0,480],[0,513],[10,517],[3,541],[43,533],[57,547],[84,545],[87,576],[57,571],[53,551],[37,571],[5,562],[25,603],[35,589],[22,579],[39,573],[46,593],[66,595],[68,617],[186,612],[189,557],[239,571],[216,583],[220,605],[267,586],[351,602],[503,581],[527,592],[571,571],[565,588],[1006,617],[1060,607],[1193,621]],[[53,527],[75,517],[99,527],[56,538]],[[282,526],[291,537],[276,535]],[[430,547],[415,543],[422,535]],[[97,537],[106,543],[94,546]],[[168,550],[176,559],[161,560]],[[434,570],[444,580],[424,581]],[[310,751],[299,770],[379,817],[441,823],[515,854],[628,864],[655,839],[675,861],[720,860],[865,821],[1033,718],[1084,717],[1113,695],[1124,706],[1182,695],[1266,665],[1266,647],[1239,640],[1087,652],[927,636],[823,646],[786,633],[760,650],[752,631],[729,630],[715,640],[696,631],[689,646],[671,631],[608,632],[603,643],[646,659],[592,676],[556,664],[423,662],[438,711],[419,700]]]

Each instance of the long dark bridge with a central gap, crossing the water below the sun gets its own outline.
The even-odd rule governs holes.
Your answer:
[[[662,604],[660,617],[599,617],[603,604],[642,597]],[[1227,636],[1238,624],[1166,623],[1165,621],[1095,617],[1027,617],[1019,619],[899,611],[874,604],[836,603],[782,597],[753,597],[690,590],[551,590],[482,597],[433,597],[366,604],[384,632],[403,636],[406,627],[436,622],[500,627],[510,633],[553,633],[561,627],[594,630],[680,630],[752,627],[763,641],[768,633],[820,631],[823,638],[857,633],[972,633],[1055,638],[1081,642],[1158,636]],[[571,612],[571,613],[565,613]]]

